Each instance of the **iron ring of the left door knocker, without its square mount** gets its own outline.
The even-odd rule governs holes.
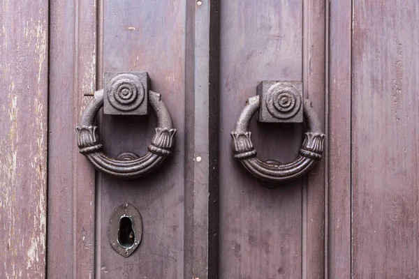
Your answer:
[[[97,126],[94,123],[98,110],[103,107],[103,89],[96,91],[82,114],[80,126],[76,128],[80,153],[86,156],[96,169],[112,176],[134,179],[152,172],[172,153],[176,129],[172,128],[172,118],[159,93],[149,91],[149,104],[157,115],[157,128],[147,154],[140,158],[119,160],[101,151],[102,144],[96,135]]]

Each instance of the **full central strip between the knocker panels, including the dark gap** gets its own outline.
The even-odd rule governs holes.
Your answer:
[[[218,278],[219,1],[193,1],[193,150],[186,158],[186,278]],[[187,6],[188,11],[192,10]],[[192,15],[192,13],[188,13]],[[193,36],[192,36],[193,35]],[[186,108],[189,112],[188,108]],[[191,243],[191,244],[189,244]]]

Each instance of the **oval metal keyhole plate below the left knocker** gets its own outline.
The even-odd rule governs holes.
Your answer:
[[[132,204],[122,204],[112,213],[108,225],[108,240],[112,248],[129,257],[140,245],[142,220],[140,212]]]

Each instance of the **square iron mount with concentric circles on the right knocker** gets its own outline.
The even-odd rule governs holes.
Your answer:
[[[260,82],[259,122],[302,123],[302,82]]]

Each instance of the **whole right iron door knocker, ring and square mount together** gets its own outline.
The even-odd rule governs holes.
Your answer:
[[[237,119],[233,137],[233,153],[237,160],[254,176],[272,183],[293,181],[307,173],[321,159],[325,134],[311,102],[302,99],[302,82],[261,82],[258,95],[249,98]],[[303,103],[303,104],[301,104]],[[307,133],[300,149],[300,156],[292,163],[264,162],[256,157],[251,142],[249,123],[259,110],[258,121],[295,123],[307,121]]]

